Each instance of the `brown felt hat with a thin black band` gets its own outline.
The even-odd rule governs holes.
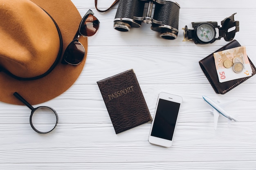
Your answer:
[[[40,104],[74,84],[88,44],[79,38],[86,51],[79,65],[61,64],[82,19],[71,0],[0,0],[0,16],[1,102],[21,105],[13,96],[18,92]]]

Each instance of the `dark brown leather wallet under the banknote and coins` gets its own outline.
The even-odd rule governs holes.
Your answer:
[[[232,49],[232,48],[235,48],[238,46],[241,46],[241,45],[236,40],[233,40],[215,52]],[[249,57],[248,57],[248,59],[249,59]],[[250,59],[249,59],[249,62],[252,67],[252,76],[253,76],[253,75],[255,75],[255,66],[253,65],[253,63]],[[199,61],[199,64],[202,68],[202,71],[204,72],[207,79],[209,80],[211,86],[213,87],[214,91],[218,94],[225,94],[228,91],[230,91],[231,89],[238,86],[239,84],[243,83],[245,80],[252,77],[252,76],[250,76],[250,77],[234,79],[234,80],[230,80],[228,82],[220,83],[219,79],[218,79],[217,71],[216,71],[213,53],[211,53],[210,55],[208,55],[207,57],[205,57],[204,59]]]

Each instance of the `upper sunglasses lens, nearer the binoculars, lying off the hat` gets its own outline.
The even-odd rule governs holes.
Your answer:
[[[99,20],[92,14],[83,18],[80,26],[80,33],[83,36],[92,36],[97,33],[99,29]]]

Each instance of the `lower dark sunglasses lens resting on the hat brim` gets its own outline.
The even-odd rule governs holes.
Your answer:
[[[83,45],[76,39],[73,40],[64,52],[64,60],[72,65],[81,63],[85,55],[85,49]]]

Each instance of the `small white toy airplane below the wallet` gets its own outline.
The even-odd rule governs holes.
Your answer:
[[[235,118],[231,117],[223,108],[221,108],[221,104],[217,104],[215,102],[213,102],[211,99],[209,99],[209,97],[206,96],[202,96],[203,99],[205,100],[205,102],[207,102],[211,107],[213,107],[213,110],[211,111],[211,113],[213,113],[214,116],[214,129],[217,129],[217,124],[218,124],[218,118],[219,115],[222,114],[223,116],[228,118],[228,125],[231,124],[231,121],[238,121]]]

